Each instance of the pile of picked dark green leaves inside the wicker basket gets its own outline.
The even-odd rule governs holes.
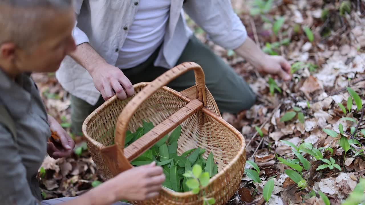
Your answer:
[[[143,121],[143,126],[136,129],[135,132],[127,131],[125,147],[133,143],[135,140],[141,138],[144,134],[149,132],[153,128],[151,122],[147,123]],[[188,186],[188,177],[191,177],[189,173],[192,171],[192,167],[199,165],[207,174],[204,174],[204,180],[213,177],[218,173],[218,166],[214,163],[213,153],[208,155],[207,160],[203,158],[205,149],[193,148],[184,152],[181,155],[177,154],[177,140],[181,134],[181,126],[176,127],[170,135],[164,136],[149,150],[145,151],[141,156],[134,159],[131,164],[133,166],[147,165],[153,161],[157,166],[162,166],[166,180],[163,185],[172,189],[175,192],[189,192],[193,190]],[[187,174],[185,174],[187,173]],[[188,177],[187,177],[188,176]],[[207,178],[207,176],[209,178]],[[205,182],[201,182],[205,185]]]

